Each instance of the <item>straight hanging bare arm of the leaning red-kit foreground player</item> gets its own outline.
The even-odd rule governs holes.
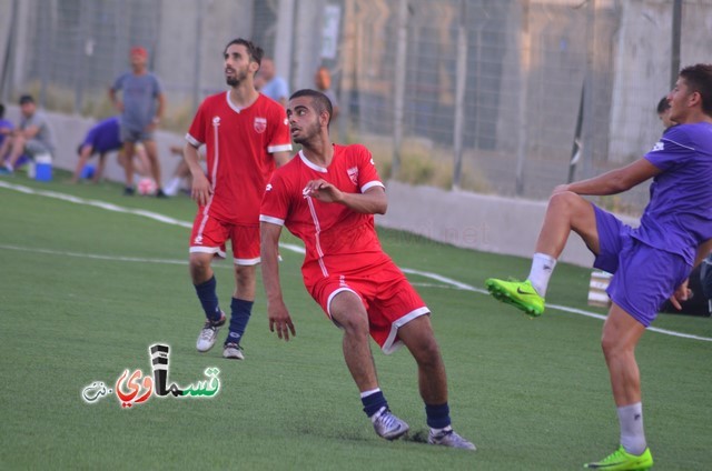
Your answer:
[[[281,226],[269,222],[260,222],[260,259],[263,284],[267,295],[267,315],[269,318],[269,331],[277,331],[277,337],[289,341],[297,334],[289,311],[285,305],[279,282],[279,234]]]

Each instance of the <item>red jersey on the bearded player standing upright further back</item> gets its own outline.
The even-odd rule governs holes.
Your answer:
[[[212,196],[199,211],[229,223],[257,224],[265,184],[275,170],[270,154],[291,150],[287,114],[261,93],[243,109],[230,102],[229,93],[206,98],[186,134],[192,146],[206,144]]]

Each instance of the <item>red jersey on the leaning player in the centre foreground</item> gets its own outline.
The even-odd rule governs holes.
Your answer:
[[[373,214],[304,196],[307,182],[317,179],[347,193],[384,186],[370,152],[360,144],[335,144],[328,168],[312,163],[299,152],[275,171],[263,198],[259,220],[285,226],[304,241],[305,284],[309,287],[329,274],[357,273],[390,260],[378,242]]]

